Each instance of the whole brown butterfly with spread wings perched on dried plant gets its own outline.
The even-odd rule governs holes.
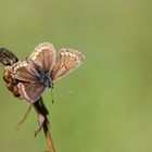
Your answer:
[[[12,77],[18,80],[21,97],[29,103],[38,101],[47,87],[77,68],[85,60],[81,52],[61,49],[58,56],[52,43],[43,42],[26,60],[9,67]]]

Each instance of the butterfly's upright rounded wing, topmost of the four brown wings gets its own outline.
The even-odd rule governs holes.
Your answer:
[[[28,60],[33,60],[36,64],[42,66],[46,73],[50,72],[55,64],[55,50],[53,45],[49,42],[38,45]]]

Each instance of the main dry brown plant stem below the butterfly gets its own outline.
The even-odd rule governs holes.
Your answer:
[[[42,102],[43,102],[42,99],[40,99],[38,102],[36,102],[34,104],[34,107],[38,115],[38,122],[39,122],[39,127],[36,130],[35,136],[37,136],[37,134],[40,131],[40,129],[43,128],[43,132],[45,132],[45,136],[47,139],[48,145],[49,145],[49,150],[50,150],[50,152],[55,152],[53,140],[52,140],[51,134],[49,131],[49,121],[47,118],[48,113],[46,113],[47,109]]]

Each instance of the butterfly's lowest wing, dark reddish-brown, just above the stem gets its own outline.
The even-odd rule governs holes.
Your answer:
[[[35,103],[38,101],[41,97],[41,93],[46,89],[45,85],[41,83],[18,83],[17,87],[21,97],[29,103]]]

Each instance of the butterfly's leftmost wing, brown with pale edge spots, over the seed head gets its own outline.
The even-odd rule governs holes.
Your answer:
[[[9,68],[12,76],[21,81],[38,83],[39,73],[36,71],[33,62],[18,61]]]

